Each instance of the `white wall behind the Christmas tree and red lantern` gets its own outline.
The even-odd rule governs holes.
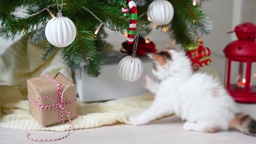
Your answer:
[[[256,0],[211,0],[204,2],[202,8],[213,21],[213,31],[207,37],[203,37],[204,45],[212,51],[211,67],[216,68],[223,78],[225,58],[222,50],[231,40],[236,39],[234,34],[227,35],[227,32],[241,22],[256,23]],[[109,34],[107,40],[114,45],[115,50],[119,50],[126,38],[120,33],[107,32]],[[172,46],[168,35],[159,31],[154,30],[149,38],[155,42],[157,48]],[[0,54],[12,43],[12,41],[0,39]]]

